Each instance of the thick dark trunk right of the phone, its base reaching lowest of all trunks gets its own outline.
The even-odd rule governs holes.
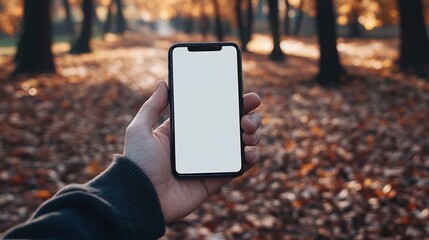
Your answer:
[[[337,33],[332,0],[317,0],[316,13],[320,48],[320,69],[316,81],[322,86],[338,87],[343,69],[337,51]]]

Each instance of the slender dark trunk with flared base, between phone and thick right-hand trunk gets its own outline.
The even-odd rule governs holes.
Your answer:
[[[286,56],[280,48],[279,1],[268,0],[268,9],[271,36],[273,38],[273,51],[270,54],[270,59],[274,61],[281,61],[285,59]]]

